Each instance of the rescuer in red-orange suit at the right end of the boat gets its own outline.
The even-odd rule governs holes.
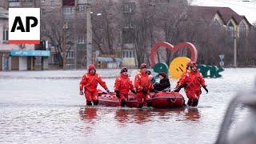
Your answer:
[[[206,93],[208,93],[208,90],[206,88],[205,80],[202,78],[202,74],[198,71],[195,62],[191,62],[190,69],[190,73],[183,75],[178,88],[174,91],[178,92],[182,87],[185,87],[186,96],[189,98],[187,105],[198,106],[198,100],[202,93],[201,86],[206,90]]]

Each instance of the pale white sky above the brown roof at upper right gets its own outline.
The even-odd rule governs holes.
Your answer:
[[[192,0],[192,5],[230,7],[236,13],[245,15],[250,23],[256,22],[256,0]]]

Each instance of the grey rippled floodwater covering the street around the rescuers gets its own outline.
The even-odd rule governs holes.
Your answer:
[[[118,71],[98,70],[110,90]],[[85,106],[83,73],[0,72],[0,143],[214,143],[230,99],[256,78],[253,68],[226,69],[206,78],[210,92],[202,90],[197,108],[138,110]]]

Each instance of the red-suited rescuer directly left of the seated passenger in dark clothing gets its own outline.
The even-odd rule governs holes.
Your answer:
[[[147,102],[147,100],[150,98],[150,90],[154,89],[154,86],[150,82],[150,76],[146,74],[146,63],[142,63],[140,69],[140,72],[136,74],[134,79],[134,86],[137,91],[139,108],[143,106],[143,102]],[[147,102],[147,106],[150,106],[150,102]]]

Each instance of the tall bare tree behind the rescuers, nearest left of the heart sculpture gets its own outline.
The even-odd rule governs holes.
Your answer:
[[[125,42],[133,43],[138,66],[149,63],[149,47],[154,43],[154,6],[149,2],[139,1],[134,14],[127,14],[122,19]]]

